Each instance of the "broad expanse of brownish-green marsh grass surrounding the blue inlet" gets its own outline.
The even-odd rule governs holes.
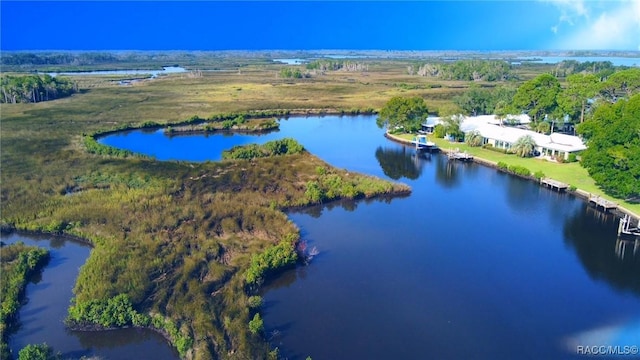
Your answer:
[[[95,247],[75,285],[76,301],[127,294],[135,311],[162,314],[192,337],[186,354],[195,359],[268,353],[248,325],[253,314],[245,273],[254,254],[298,234],[282,209],[314,203],[305,194],[307,184],[318,184],[322,201],[408,188],[347,174],[308,153],[158,162],[90,154],[83,138],[222,113],[379,109],[396,95],[423,96],[437,111],[468,85],[408,76],[403,62],[296,80],[278,78],[280,67],[264,59],[238,62],[242,71],[174,74],[131,86],[86,78],[69,98],[0,105],[3,225],[91,241]]]

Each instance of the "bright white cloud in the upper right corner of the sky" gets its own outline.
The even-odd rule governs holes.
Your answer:
[[[640,50],[640,0],[546,2],[560,12],[553,48]]]

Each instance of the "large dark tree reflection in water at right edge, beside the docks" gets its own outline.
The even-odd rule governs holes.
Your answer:
[[[634,239],[617,238],[617,228],[617,217],[584,204],[566,218],[565,242],[591,278],[640,295],[639,245]]]

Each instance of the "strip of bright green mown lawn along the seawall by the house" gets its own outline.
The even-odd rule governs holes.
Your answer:
[[[415,135],[401,134],[397,135],[400,138],[413,140]],[[502,154],[496,151],[486,150],[480,147],[472,147],[465,143],[452,143],[445,139],[437,139],[434,136],[429,136],[429,141],[433,141],[443,150],[458,148],[460,151],[466,151],[467,153],[489,161],[499,162],[502,161],[509,165],[520,165],[531,170],[532,173],[542,171],[545,177],[549,177],[570,185],[575,186],[578,189],[586,192],[600,195],[605,199],[614,201],[621,206],[633,211],[636,214],[640,214],[640,204],[631,204],[624,200],[616,199],[605,194],[595,183],[595,181],[589,176],[589,173],[585,168],[580,166],[580,163],[567,163],[559,164],[547,160],[535,159],[535,158],[521,158],[513,154]]]

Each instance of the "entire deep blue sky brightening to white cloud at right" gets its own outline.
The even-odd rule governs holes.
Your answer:
[[[5,1],[2,50],[640,50],[640,0]]]

